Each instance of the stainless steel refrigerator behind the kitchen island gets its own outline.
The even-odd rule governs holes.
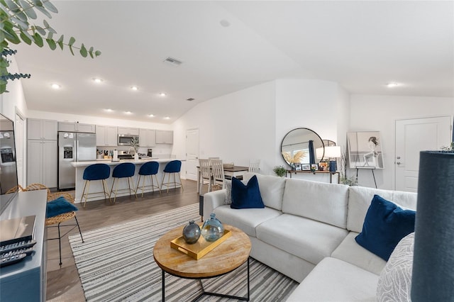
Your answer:
[[[74,189],[76,168],[71,162],[96,160],[95,133],[58,133],[58,189]]]

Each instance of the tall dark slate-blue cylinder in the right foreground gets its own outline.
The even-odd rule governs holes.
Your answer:
[[[422,151],[411,301],[454,301],[454,152]]]

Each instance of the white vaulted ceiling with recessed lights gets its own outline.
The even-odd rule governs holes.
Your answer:
[[[200,102],[273,79],[454,96],[453,1],[52,3],[52,28],[102,55],[13,45],[20,72],[32,74],[23,80],[31,110],[172,123]]]

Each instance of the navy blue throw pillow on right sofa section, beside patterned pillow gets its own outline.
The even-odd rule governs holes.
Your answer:
[[[362,232],[356,242],[366,250],[388,261],[397,243],[414,232],[416,212],[374,195],[367,210]]]

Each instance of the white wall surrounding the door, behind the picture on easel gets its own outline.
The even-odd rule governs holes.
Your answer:
[[[454,98],[353,94],[350,102],[350,131],[378,130],[382,136],[384,169],[375,170],[380,189],[394,189],[395,121],[454,115]],[[358,184],[375,186],[370,171],[359,172]]]

